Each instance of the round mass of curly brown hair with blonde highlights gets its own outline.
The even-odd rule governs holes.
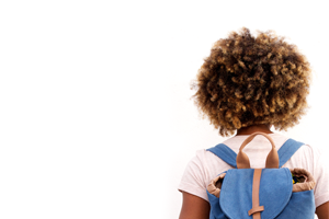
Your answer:
[[[214,44],[191,88],[200,112],[230,136],[250,125],[293,127],[306,113],[309,83],[309,62],[295,45],[243,27]]]

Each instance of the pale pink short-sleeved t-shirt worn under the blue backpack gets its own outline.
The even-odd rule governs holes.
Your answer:
[[[281,146],[288,139],[280,134],[269,135],[279,150]],[[223,143],[238,153],[239,148],[248,136],[235,136],[227,139]],[[297,140],[297,139],[296,139]],[[265,166],[266,155],[271,150],[270,141],[263,136],[257,136],[243,152],[247,153],[252,169],[262,169]],[[283,168],[302,168],[310,172],[316,181],[314,188],[316,207],[329,201],[329,170],[322,163],[326,158],[321,157],[320,151],[308,145],[302,146],[297,152],[283,165]],[[190,193],[208,201],[206,186],[219,173],[232,169],[214,153],[206,150],[196,151],[196,155],[189,162],[179,191]]]

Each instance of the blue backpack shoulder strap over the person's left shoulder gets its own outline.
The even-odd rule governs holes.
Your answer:
[[[207,149],[207,151],[211,151],[218,158],[220,158],[223,161],[228,163],[229,165],[237,168],[237,153],[232,151],[230,148],[228,148],[224,143],[219,143],[215,146],[214,148]]]

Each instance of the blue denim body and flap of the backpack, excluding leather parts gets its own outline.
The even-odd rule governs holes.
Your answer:
[[[208,194],[211,219],[252,219],[253,169],[228,170],[223,181],[219,198]],[[313,219],[315,201],[313,191],[292,193],[292,175],[288,169],[263,169],[259,201],[264,206],[262,219]]]

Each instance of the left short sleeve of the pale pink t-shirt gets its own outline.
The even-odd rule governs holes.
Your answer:
[[[200,158],[196,155],[189,162],[178,189],[198,196],[208,201],[204,178],[205,169]]]

